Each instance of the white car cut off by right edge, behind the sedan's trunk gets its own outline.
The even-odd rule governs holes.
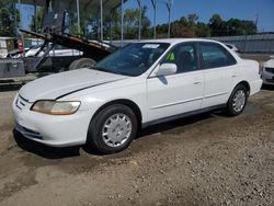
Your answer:
[[[274,85],[274,56],[263,64],[262,79],[264,84]]]

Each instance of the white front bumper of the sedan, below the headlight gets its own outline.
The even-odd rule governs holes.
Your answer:
[[[19,95],[12,103],[15,129],[24,137],[53,147],[83,145],[91,119],[89,111],[72,115],[47,115],[30,110],[32,103]]]

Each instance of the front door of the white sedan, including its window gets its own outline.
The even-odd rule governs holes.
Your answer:
[[[160,64],[173,62],[178,71],[171,76],[147,79],[148,121],[199,110],[204,73],[197,64],[195,44],[183,43],[171,49]]]

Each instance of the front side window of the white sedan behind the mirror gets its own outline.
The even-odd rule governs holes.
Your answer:
[[[178,67],[176,73],[195,71],[197,67],[197,57],[193,44],[181,44],[171,49],[164,57],[162,64],[172,62]]]

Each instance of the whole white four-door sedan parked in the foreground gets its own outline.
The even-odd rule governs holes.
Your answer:
[[[12,105],[15,129],[26,138],[112,153],[148,125],[216,108],[239,115],[261,85],[259,64],[221,43],[159,39],[30,82]]]

